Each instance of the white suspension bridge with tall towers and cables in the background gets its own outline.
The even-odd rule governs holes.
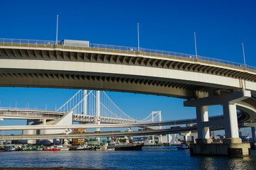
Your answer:
[[[136,120],[124,113],[105,91],[79,90],[55,111],[32,108],[0,108],[0,118],[26,120],[56,120],[72,111],[72,120],[79,123],[147,123],[162,121],[160,111],[150,113],[143,120]]]

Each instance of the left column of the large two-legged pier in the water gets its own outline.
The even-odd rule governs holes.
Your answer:
[[[208,107],[196,106],[198,142],[208,143],[210,140],[209,127],[204,127],[203,122],[208,122]]]

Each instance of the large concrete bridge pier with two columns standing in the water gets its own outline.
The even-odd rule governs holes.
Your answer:
[[[242,143],[238,133],[236,103],[250,97],[250,91],[235,91],[222,96],[210,96],[185,101],[184,106],[196,107],[198,139],[191,144],[191,155],[215,155],[228,157],[250,156],[250,144]],[[208,106],[222,105],[223,118],[208,120]],[[225,128],[223,144],[214,144],[210,139],[210,127]]]

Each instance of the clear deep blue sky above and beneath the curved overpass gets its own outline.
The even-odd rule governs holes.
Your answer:
[[[89,40],[92,43],[140,47],[195,54],[255,64],[256,1],[0,1],[0,38]],[[76,90],[0,88],[1,106],[55,108]],[[144,118],[162,111],[164,120],[195,118],[194,108],[184,108],[183,100],[161,96],[108,95],[128,115]],[[210,115],[221,114],[220,107]],[[0,125],[7,121],[0,122]],[[16,121],[19,123],[19,121]]]

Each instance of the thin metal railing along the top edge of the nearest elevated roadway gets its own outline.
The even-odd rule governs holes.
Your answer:
[[[63,45],[63,41],[52,41],[52,40],[20,40],[20,39],[0,38],[0,42],[11,43],[11,44]],[[123,47],[123,46],[117,46],[117,45],[100,45],[100,44],[93,44],[93,43],[90,43],[89,47],[98,48],[98,49],[106,49],[106,50],[128,51],[128,52],[145,52],[145,53],[151,53],[151,54],[162,55],[162,56],[169,55],[169,56],[175,56],[175,57],[184,57],[184,58],[190,58],[190,59],[203,60],[206,62],[216,62],[216,63],[220,63],[220,64],[228,64],[230,66],[256,70],[256,67],[252,67],[247,64],[240,64],[237,62],[229,62],[226,60],[218,60],[218,59],[213,59],[210,57],[202,57],[199,55],[188,55],[188,54],[183,54],[183,53],[179,53],[179,52],[150,50],[150,49],[141,48],[141,47],[138,48],[138,47]]]

